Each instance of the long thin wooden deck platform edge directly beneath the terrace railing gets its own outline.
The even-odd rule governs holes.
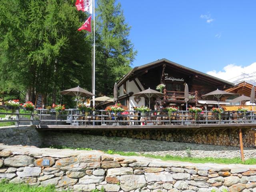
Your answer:
[[[216,129],[247,129],[256,128],[256,123],[248,124],[191,124],[191,125],[41,125],[38,130],[216,130]]]

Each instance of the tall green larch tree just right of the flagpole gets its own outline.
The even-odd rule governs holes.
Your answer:
[[[120,3],[97,0],[96,14],[96,93],[111,95],[114,83],[131,70],[136,51]]]

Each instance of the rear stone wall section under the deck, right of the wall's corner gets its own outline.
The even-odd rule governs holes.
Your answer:
[[[44,131],[45,146],[64,145],[74,148],[92,148],[95,150],[132,151],[145,154],[192,157],[235,158],[240,157],[240,148],[168,142],[113,136],[87,135],[70,131]],[[256,158],[255,148],[244,148],[245,158]]]

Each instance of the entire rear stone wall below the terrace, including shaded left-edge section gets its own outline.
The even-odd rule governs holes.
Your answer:
[[[97,133],[96,133],[97,134]],[[168,142],[162,140],[145,140],[114,136],[88,135],[84,132],[37,131],[35,126],[19,128],[0,128],[0,143],[33,146],[64,145],[74,148],[92,148],[94,150],[116,150],[145,154],[192,157],[240,157],[240,148],[192,144],[185,142]],[[245,158],[256,158],[255,148],[244,148]]]

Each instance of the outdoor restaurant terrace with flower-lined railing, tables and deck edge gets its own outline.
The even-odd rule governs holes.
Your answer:
[[[5,110],[2,106],[0,115],[10,115],[12,119],[0,119],[1,122],[21,122],[37,124],[38,128],[60,129],[215,129],[215,128],[256,128],[256,111],[246,113],[225,111],[218,116],[212,111],[192,114],[188,111],[176,111],[168,114],[162,111],[150,111],[140,114],[127,110],[113,115],[106,110],[82,113],[77,109],[66,109],[56,116],[54,110],[36,109],[34,111]],[[219,118],[220,117],[220,118]]]

